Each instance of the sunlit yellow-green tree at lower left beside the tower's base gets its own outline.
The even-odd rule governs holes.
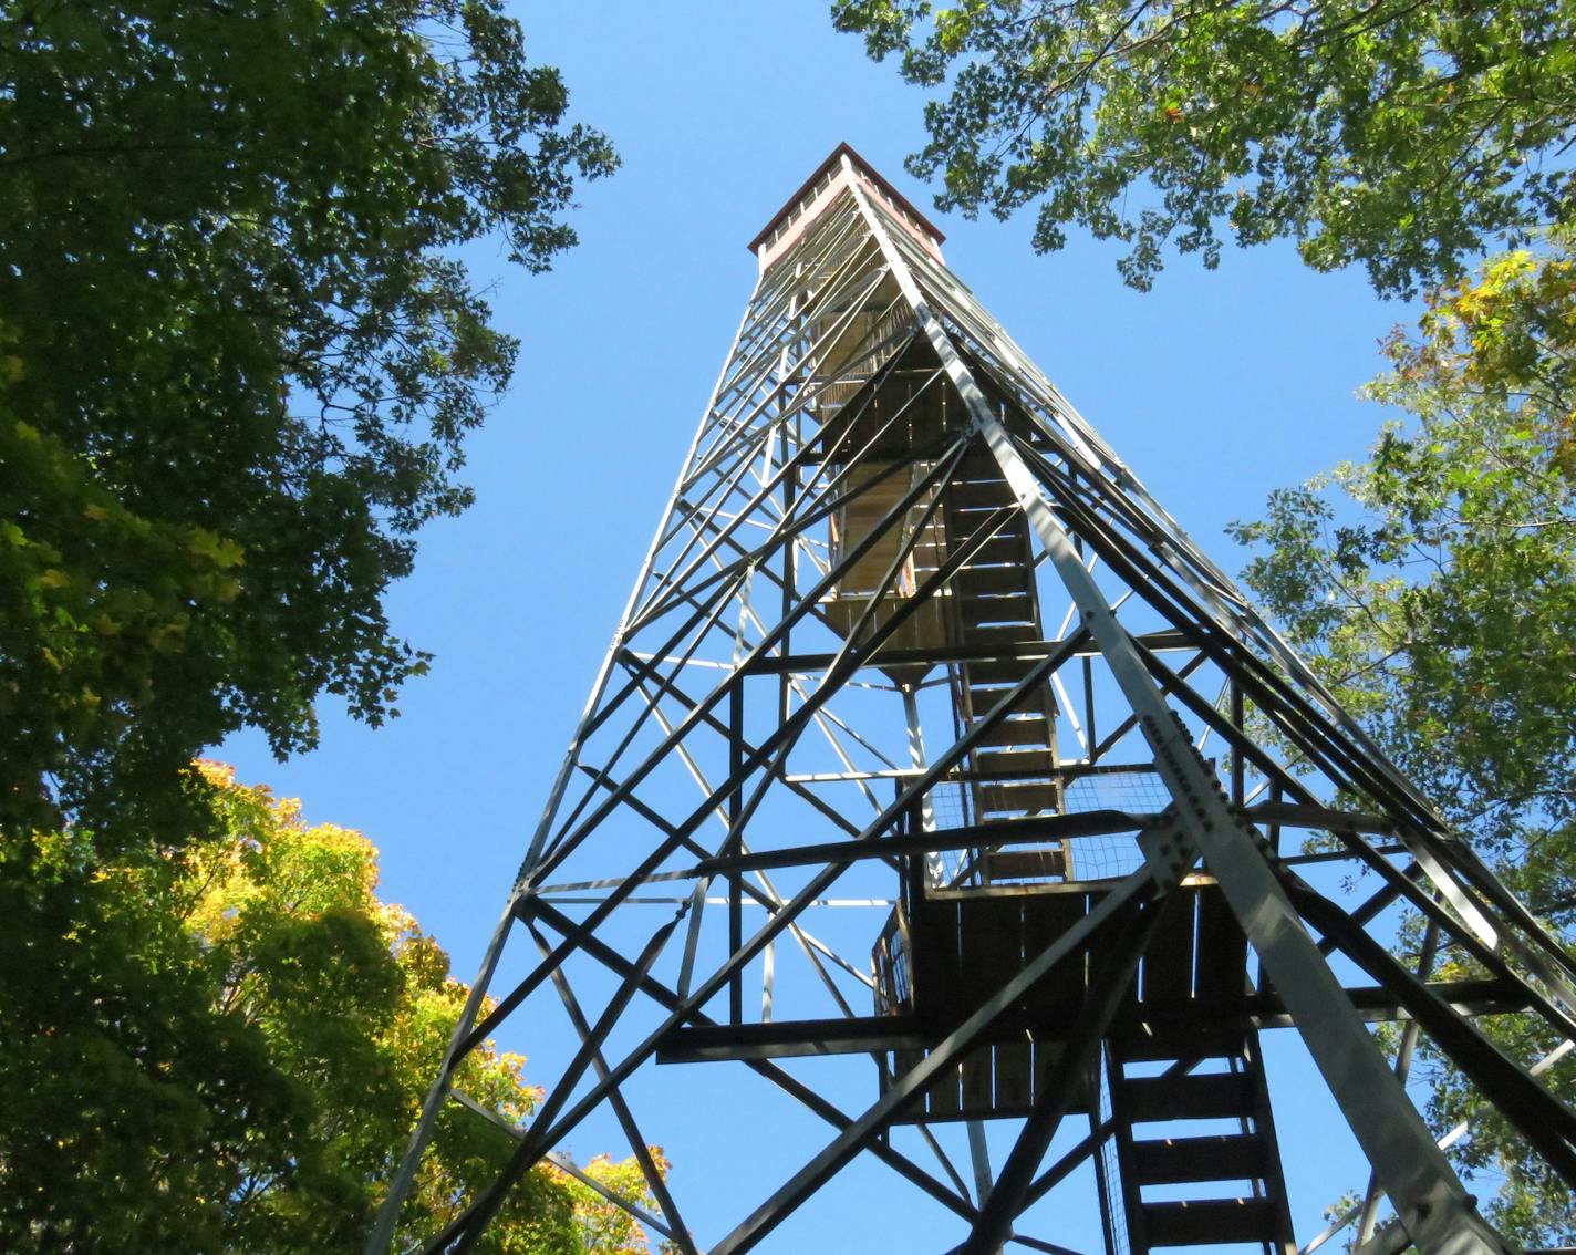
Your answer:
[[[466,989],[375,896],[358,832],[203,765],[222,839],[104,864],[38,837],[58,919],[0,935],[0,1246],[14,1252],[359,1250]],[[506,1123],[539,1091],[490,1045],[457,1088]],[[512,1149],[451,1105],[403,1214],[402,1249]],[[660,1151],[657,1151],[660,1160]],[[593,1175],[651,1206],[634,1162]],[[635,1255],[638,1227],[553,1170],[489,1233],[512,1255]]]

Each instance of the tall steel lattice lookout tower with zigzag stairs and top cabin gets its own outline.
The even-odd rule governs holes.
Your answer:
[[[427,1250],[474,1247],[597,1113],[660,1214],[630,1209],[687,1255],[768,1241],[860,1156],[890,1170],[870,1206],[936,1206],[938,1250],[1064,1252],[1040,1203],[1081,1190],[1057,1206],[1098,1208],[1108,1255],[1291,1255],[1259,1055],[1277,1026],[1373,1165],[1365,1225],[1381,1192],[1398,1217],[1365,1250],[1513,1249],[1365,1023],[1404,1019],[1403,1055],[1426,1033],[1576,1184],[1576,1116],[1472,1020],[1576,1036],[1559,941],[857,155],[752,249],[755,293],[369,1252],[446,1104],[501,1123],[451,1080],[511,1017],[526,1041],[556,1017],[580,1050]],[[1314,834],[1325,851],[1302,853]],[[1332,859],[1366,869],[1357,905],[1310,883]],[[1393,959],[1399,908],[1475,974]],[[717,1067],[753,1074],[760,1138],[791,1108],[820,1149],[783,1181],[752,1171],[758,1138],[723,1137],[727,1189],[753,1195],[698,1235],[629,1094],[687,1088],[703,1123]]]

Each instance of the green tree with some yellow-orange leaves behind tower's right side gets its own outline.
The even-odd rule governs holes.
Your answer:
[[[1270,497],[1239,523],[1245,579],[1381,746],[1567,941],[1576,935],[1576,259],[1565,235],[1428,301],[1366,394],[1412,426],[1370,460]],[[1333,495],[1333,501],[1332,501]],[[1344,498],[1344,501],[1341,500]],[[1422,929],[1403,933],[1415,951]],[[1576,944],[1576,943],[1573,943]],[[1477,974],[1447,952],[1440,976]],[[1480,1022],[1530,1064],[1541,1020]],[[1499,1178],[1529,1244],[1576,1238],[1576,1197],[1423,1042],[1440,1132]],[[1576,1063],[1543,1077],[1576,1100]]]

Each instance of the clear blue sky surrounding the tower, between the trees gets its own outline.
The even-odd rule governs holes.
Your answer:
[[[315,754],[281,765],[257,738],[224,747],[243,779],[301,796],[309,820],[362,829],[383,851],[383,894],[462,976],[744,309],[745,243],[840,140],[930,205],[903,172],[922,142],[920,95],[837,35],[826,0],[517,11],[531,58],[563,69],[574,115],[611,136],[624,167],[583,189],[582,244],[553,273],[509,271],[492,249],[470,257],[523,350],[512,393],[470,446],[476,508],[424,533],[416,575],[389,596],[397,629],[437,654],[433,672],[383,730],[325,703]],[[1357,273],[1313,274],[1273,246],[1228,251],[1215,273],[1174,259],[1154,292],[1135,293],[1114,248],[1075,235],[1037,257],[1026,218],[936,221],[953,271],[1228,569],[1242,564],[1221,534],[1229,520],[1258,514],[1277,486],[1362,456],[1377,430],[1382,413],[1352,391],[1407,309],[1376,301]],[[541,1082],[567,1045],[509,1044]],[[678,1189],[684,1137],[651,1123]],[[597,1135],[577,1154],[599,1149]],[[1340,1162],[1343,1130],[1314,1121],[1281,1135],[1299,1143],[1289,1157],[1305,1236],[1357,1173]],[[714,1208],[719,1219],[692,1223],[725,1225],[727,1200]],[[936,1246],[892,1223],[883,1233]]]

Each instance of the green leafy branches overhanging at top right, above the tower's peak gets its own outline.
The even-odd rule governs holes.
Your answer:
[[[1562,0],[834,0],[872,57],[946,87],[909,161],[942,208],[1039,202],[1132,246],[1214,266],[1221,235],[1289,236],[1382,295],[1453,281],[1486,243],[1573,221],[1576,11]]]

